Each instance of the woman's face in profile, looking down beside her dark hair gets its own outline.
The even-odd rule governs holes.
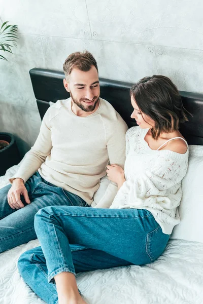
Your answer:
[[[130,117],[136,120],[140,128],[148,129],[154,127],[155,123],[153,119],[151,119],[148,115],[145,115],[143,112],[140,111],[136,101],[134,101],[132,96],[131,96],[131,104],[134,110],[131,113]]]

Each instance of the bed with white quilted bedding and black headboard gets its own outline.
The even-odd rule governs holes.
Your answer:
[[[33,68],[29,71],[41,118],[49,102],[69,94],[62,84],[62,72]],[[126,121],[130,119],[130,83],[100,79],[101,97],[107,99]],[[180,92],[184,106],[192,113],[181,126],[188,141],[189,168],[183,180],[181,223],[175,228],[164,253],[153,263],[98,270],[77,275],[79,289],[89,304],[201,304],[203,302],[203,94]],[[18,166],[0,177],[0,188],[8,184]],[[18,257],[39,246],[33,240],[0,254],[0,304],[44,303],[24,283],[17,270]]]

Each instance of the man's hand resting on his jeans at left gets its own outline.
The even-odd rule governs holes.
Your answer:
[[[20,209],[24,207],[23,203],[20,200],[20,195],[23,195],[25,202],[27,204],[30,204],[27,189],[22,178],[15,178],[7,196],[9,206],[12,209]]]

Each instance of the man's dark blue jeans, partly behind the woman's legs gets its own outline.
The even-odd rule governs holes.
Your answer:
[[[26,204],[21,196],[24,207],[12,209],[7,200],[11,185],[0,189],[0,253],[37,239],[34,228],[35,214],[46,206],[89,206],[77,195],[64,191],[43,179],[38,172],[25,183],[30,204]]]

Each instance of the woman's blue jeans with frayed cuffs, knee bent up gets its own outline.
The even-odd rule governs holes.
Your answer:
[[[35,216],[35,230],[41,247],[23,253],[18,269],[49,304],[58,301],[55,275],[150,263],[170,238],[144,209],[46,207]]]

